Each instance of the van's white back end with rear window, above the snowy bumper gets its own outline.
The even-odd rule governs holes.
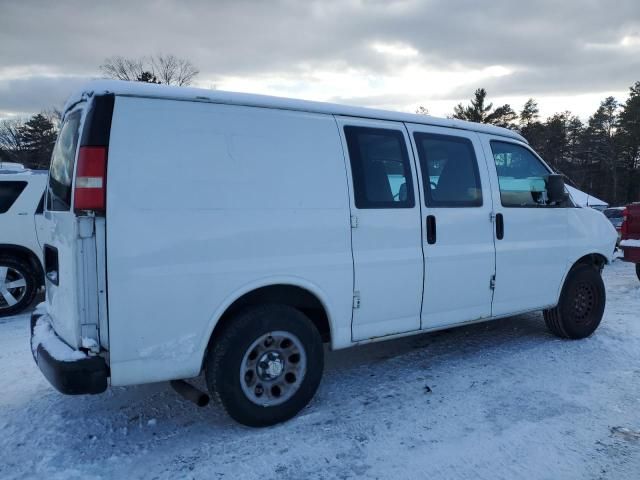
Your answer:
[[[106,97],[106,108],[104,98],[81,102],[64,116],[51,161],[44,220],[48,224],[44,264],[51,322],[71,347],[95,350],[107,341],[106,309],[100,308],[105,303],[101,300],[105,295],[104,272],[99,277],[97,253],[104,255],[104,211],[81,209],[78,199],[92,201],[97,183],[104,187],[104,179],[97,173],[86,173],[96,169],[92,155],[96,142],[103,143],[101,168],[106,168],[113,97]],[[106,138],[104,133],[96,134],[105,129]],[[83,158],[77,161],[79,156]],[[100,264],[103,262],[102,258]]]

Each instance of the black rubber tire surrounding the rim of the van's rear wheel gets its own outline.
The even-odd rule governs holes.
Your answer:
[[[264,364],[260,363],[260,359],[254,360],[256,362],[254,382],[256,383],[252,384],[253,386],[249,386],[247,377],[243,377],[244,380],[241,379],[241,371],[247,369],[246,359],[250,359],[256,352],[253,350],[255,342],[265,335],[268,335],[267,338],[272,338],[270,334],[274,333],[276,336],[278,332],[292,335],[299,340],[298,345],[303,348],[303,354],[306,355],[304,372],[299,373],[297,379],[294,376],[294,381],[297,383],[295,388],[287,392],[291,397],[286,401],[277,405],[259,405],[249,396],[252,392],[259,390],[246,393],[244,389],[258,389],[258,386],[262,390],[275,388],[270,386],[272,385],[269,383],[270,379],[264,380],[264,377],[259,376],[265,371],[259,370],[258,365]],[[257,348],[270,347],[259,343]],[[260,352],[261,356],[267,354],[266,350]],[[254,358],[257,355],[256,353]],[[291,365],[295,363],[294,356],[289,357],[293,362]],[[283,354],[282,358],[286,358],[286,354]],[[298,361],[299,359],[300,356]],[[284,360],[282,365],[286,362],[288,360]],[[216,335],[205,360],[205,377],[211,396],[222,404],[234,420],[250,427],[266,427],[294,417],[313,398],[320,384],[323,369],[324,351],[320,333],[306,315],[286,305],[263,305],[239,312],[230,319],[222,332]],[[249,373],[246,372],[247,375]],[[278,377],[279,381],[284,383],[282,379],[287,375],[289,373],[284,377]],[[260,382],[265,385],[257,385]],[[289,386],[285,385],[285,389],[288,388]],[[279,388],[277,391],[280,391]]]

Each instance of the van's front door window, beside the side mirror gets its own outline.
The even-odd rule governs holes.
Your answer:
[[[492,140],[491,151],[503,207],[547,206],[546,178],[551,172],[529,149]]]

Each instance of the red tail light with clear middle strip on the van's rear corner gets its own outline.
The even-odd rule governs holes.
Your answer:
[[[76,165],[76,186],[73,192],[74,210],[104,212],[106,181],[106,147],[80,147]]]

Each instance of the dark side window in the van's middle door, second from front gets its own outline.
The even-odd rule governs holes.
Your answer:
[[[480,207],[482,184],[471,140],[452,135],[414,133],[425,205]]]

